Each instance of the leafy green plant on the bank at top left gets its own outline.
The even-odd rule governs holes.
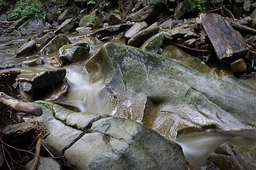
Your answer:
[[[9,15],[11,18],[19,19],[21,17],[39,17],[45,19],[46,10],[39,0],[18,0],[17,8]]]

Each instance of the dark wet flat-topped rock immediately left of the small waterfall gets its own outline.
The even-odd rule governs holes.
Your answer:
[[[29,82],[36,88],[42,88],[62,82],[66,75],[65,69],[54,70],[51,68],[23,68],[18,75],[19,82]]]

